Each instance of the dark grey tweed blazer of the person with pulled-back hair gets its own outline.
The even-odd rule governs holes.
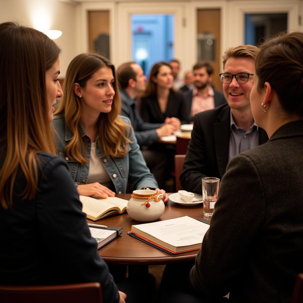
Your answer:
[[[221,181],[193,287],[230,302],[290,302],[303,272],[303,121],[237,155]]]

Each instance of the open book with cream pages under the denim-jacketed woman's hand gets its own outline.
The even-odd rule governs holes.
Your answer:
[[[112,214],[122,214],[126,211],[128,203],[128,200],[117,197],[95,199],[88,196],[80,196],[80,201],[82,202],[82,211],[85,212],[88,219],[93,221]]]

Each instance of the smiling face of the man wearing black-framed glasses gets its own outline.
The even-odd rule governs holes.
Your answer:
[[[254,60],[251,58],[228,58],[224,68],[225,73],[233,75],[238,73],[255,72]],[[249,76],[248,82],[240,84],[235,77],[232,78],[231,83],[223,83],[223,92],[228,105],[232,109],[245,110],[250,106],[249,95],[252,88],[252,76]]]

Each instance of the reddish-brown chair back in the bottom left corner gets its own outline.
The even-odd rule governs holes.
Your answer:
[[[0,285],[0,302],[102,303],[103,298],[98,282],[42,286]]]

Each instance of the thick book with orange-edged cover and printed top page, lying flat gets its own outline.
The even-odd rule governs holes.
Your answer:
[[[176,254],[200,249],[208,228],[209,223],[185,216],[132,225],[132,231],[128,231],[128,235],[169,254]]]

